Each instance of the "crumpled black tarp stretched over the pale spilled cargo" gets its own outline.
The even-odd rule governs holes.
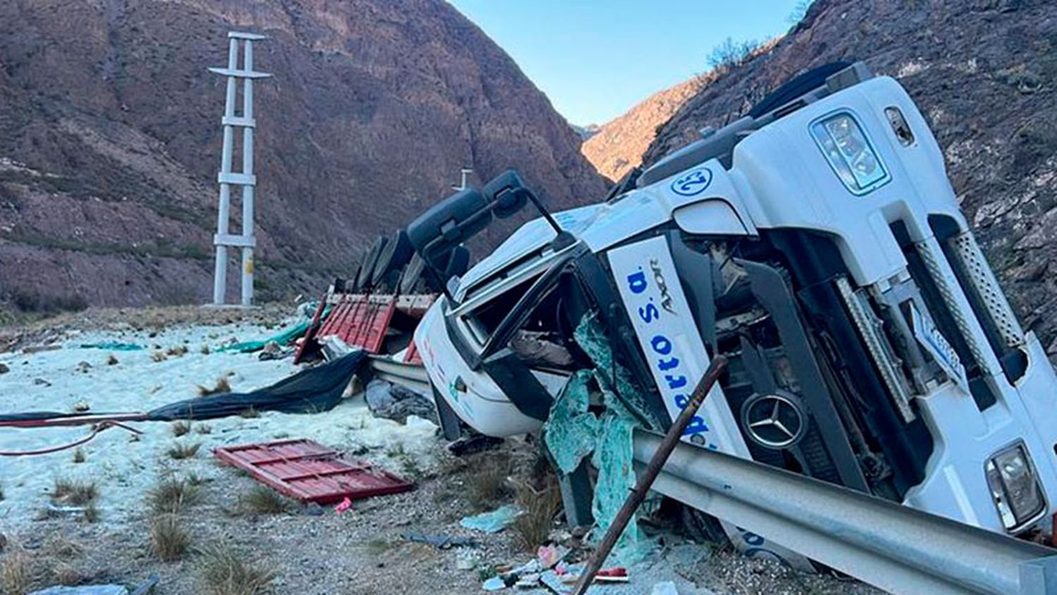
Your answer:
[[[252,392],[225,392],[188,398],[159,407],[147,413],[155,422],[210,420],[255,411],[318,413],[333,409],[341,401],[349,380],[367,360],[367,352],[354,351],[333,361],[298,372],[289,378]]]

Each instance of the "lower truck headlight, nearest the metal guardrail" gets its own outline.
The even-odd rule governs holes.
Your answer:
[[[1023,444],[1015,444],[991,457],[984,469],[995,507],[1006,531],[1019,531],[1045,508],[1042,488]]]

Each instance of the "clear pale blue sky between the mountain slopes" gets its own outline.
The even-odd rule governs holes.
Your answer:
[[[712,48],[785,33],[799,0],[449,0],[572,124],[604,124],[708,70]]]

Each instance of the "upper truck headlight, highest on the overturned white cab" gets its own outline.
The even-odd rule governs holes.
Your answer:
[[[853,194],[865,194],[888,182],[885,164],[851,113],[841,112],[813,123],[811,135]]]

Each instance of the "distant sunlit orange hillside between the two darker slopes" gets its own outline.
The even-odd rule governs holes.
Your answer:
[[[599,173],[619,180],[637,167],[657,131],[705,82],[694,77],[670,89],[650,95],[646,100],[616,117],[583,141],[580,151]]]

